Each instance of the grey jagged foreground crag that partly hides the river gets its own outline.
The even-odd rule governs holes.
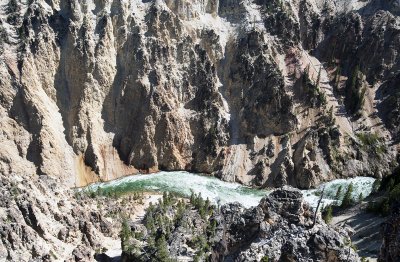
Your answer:
[[[276,190],[254,209],[233,205],[221,208],[224,225],[215,261],[358,261],[345,248],[344,232],[321,224],[312,227],[313,211],[302,194],[291,189]],[[219,254],[219,256],[217,255]]]

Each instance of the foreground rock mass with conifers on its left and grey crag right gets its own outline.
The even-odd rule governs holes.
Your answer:
[[[346,232],[320,218],[313,226],[314,212],[298,190],[276,190],[251,209],[206,203],[199,196],[185,203],[167,195],[148,210],[143,225],[127,227],[123,258],[359,261]]]

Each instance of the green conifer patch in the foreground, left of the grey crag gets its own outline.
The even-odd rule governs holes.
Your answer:
[[[164,193],[157,205],[150,204],[142,229],[132,229],[123,221],[121,243],[123,253],[132,261],[173,261],[169,250],[176,234],[185,237],[187,245],[195,250],[194,261],[205,261],[211,254],[212,239],[217,222],[211,219],[215,207],[200,194],[192,193],[190,200],[178,199]],[[179,233],[177,233],[179,232]]]

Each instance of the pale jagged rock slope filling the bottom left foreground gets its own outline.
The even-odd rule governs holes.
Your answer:
[[[77,200],[46,176],[1,175],[0,259],[4,261],[93,261],[113,247],[118,225],[92,199]],[[113,222],[114,221],[114,222]]]

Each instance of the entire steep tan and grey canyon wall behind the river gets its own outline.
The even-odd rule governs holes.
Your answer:
[[[15,126],[3,130],[25,130],[18,155],[71,186],[160,169],[305,188],[384,175],[398,136],[396,1],[348,7],[10,1],[0,101]],[[388,146],[370,154],[364,132]]]

